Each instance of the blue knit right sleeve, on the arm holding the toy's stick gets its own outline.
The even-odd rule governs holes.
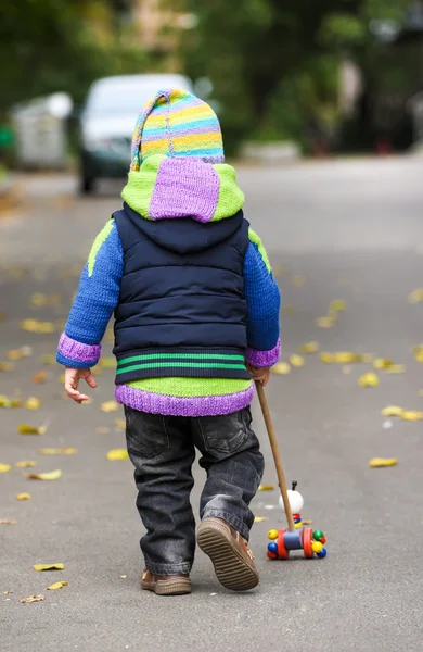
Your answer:
[[[279,313],[281,299],[270,262],[260,238],[249,228],[244,260],[244,288],[248,304],[246,361],[271,366],[279,360]]]

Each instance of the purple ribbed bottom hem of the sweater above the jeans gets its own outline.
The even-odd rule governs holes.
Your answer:
[[[217,397],[169,397],[128,385],[118,385],[115,397],[118,403],[140,412],[164,416],[219,416],[243,410],[253,400],[254,385],[248,389]]]

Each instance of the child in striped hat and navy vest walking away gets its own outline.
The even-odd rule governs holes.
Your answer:
[[[223,161],[210,106],[157,92],[136,125],[124,208],[92,246],[59,343],[66,392],[81,403],[114,311],[116,399],[146,529],[141,586],[161,595],[191,592],[195,538],[223,587],[259,580],[248,505],[264,459],[249,404],[253,379],[265,385],[279,359],[280,297]],[[207,474],[197,537],[195,449]]]

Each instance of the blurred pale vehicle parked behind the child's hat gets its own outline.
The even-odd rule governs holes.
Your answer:
[[[129,168],[137,116],[159,88],[193,90],[182,75],[104,77],[89,89],[79,122],[80,191],[94,190],[99,177],[120,177]]]

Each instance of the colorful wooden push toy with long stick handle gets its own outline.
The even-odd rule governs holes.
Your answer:
[[[265,390],[261,383],[256,381],[257,396],[260,401],[262,416],[269,435],[274,465],[277,467],[281,496],[279,503],[286,514],[287,528],[282,530],[271,529],[268,532],[270,543],[267,546],[267,556],[270,560],[287,560],[293,550],[303,550],[306,559],[325,557],[328,554],[324,543],[326,537],[321,530],[304,527],[300,512],[304,507],[304,499],[296,490],[297,482],[292,484],[292,489],[286,489],[285,474],[283,473],[282,460],[279,452],[278,439],[274,432],[270,411],[267,404]]]

